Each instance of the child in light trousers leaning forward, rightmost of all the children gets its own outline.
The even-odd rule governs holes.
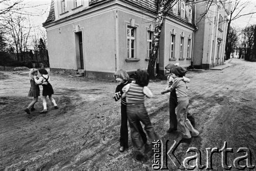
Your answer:
[[[188,109],[188,94],[186,82],[183,81],[183,77],[186,74],[186,69],[181,66],[175,66],[172,68],[171,76],[174,78],[172,86],[166,88],[161,92],[164,94],[166,92],[172,92],[176,90],[177,94],[177,121],[178,121],[178,130],[182,134],[184,142],[189,142],[189,139],[194,136],[198,136],[199,132],[191,125],[190,121],[187,119],[187,109]]]

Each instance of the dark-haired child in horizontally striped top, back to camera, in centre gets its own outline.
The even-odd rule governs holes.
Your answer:
[[[144,158],[145,143],[138,131],[140,121],[144,124],[144,129],[151,142],[160,138],[154,131],[144,105],[145,96],[148,98],[153,97],[153,93],[147,87],[149,76],[144,70],[137,70],[134,76],[135,83],[127,84],[123,88],[124,93],[122,97],[126,97],[127,117],[131,129],[131,137],[135,149],[138,152],[136,159],[142,160]]]

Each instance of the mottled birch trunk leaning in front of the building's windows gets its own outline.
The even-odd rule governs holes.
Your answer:
[[[155,64],[156,64],[158,49],[159,49],[159,39],[160,39],[160,34],[163,26],[164,7],[166,3],[167,1],[161,1],[159,5],[159,10],[157,12],[155,32],[154,32],[153,41],[152,41],[152,51],[150,53],[150,61],[148,61],[148,66],[147,66],[147,72],[150,75],[150,78],[154,78]]]

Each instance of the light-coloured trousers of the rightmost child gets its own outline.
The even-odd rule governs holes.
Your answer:
[[[191,138],[191,136],[198,136],[199,132],[194,129],[190,121],[187,119],[187,108],[188,99],[179,100],[177,106],[177,120],[178,120],[178,130],[182,134],[182,138]]]

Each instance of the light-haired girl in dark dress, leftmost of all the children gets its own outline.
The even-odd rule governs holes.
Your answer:
[[[29,104],[29,106],[24,110],[25,112],[27,112],[29,114],[29,117],[31,117],[30,115],[30,110],[34,111],[34,105],[38,100],[38,96],[40,95],[40,89],[39,89],[39,85],[37,85],[35,83],[34,77],[37,76],[37,69],[32,68],[29,71],[29,77],[30,77],[30,90],[29,90],[29,94],[28,96],[34,97],[33,101]]]

